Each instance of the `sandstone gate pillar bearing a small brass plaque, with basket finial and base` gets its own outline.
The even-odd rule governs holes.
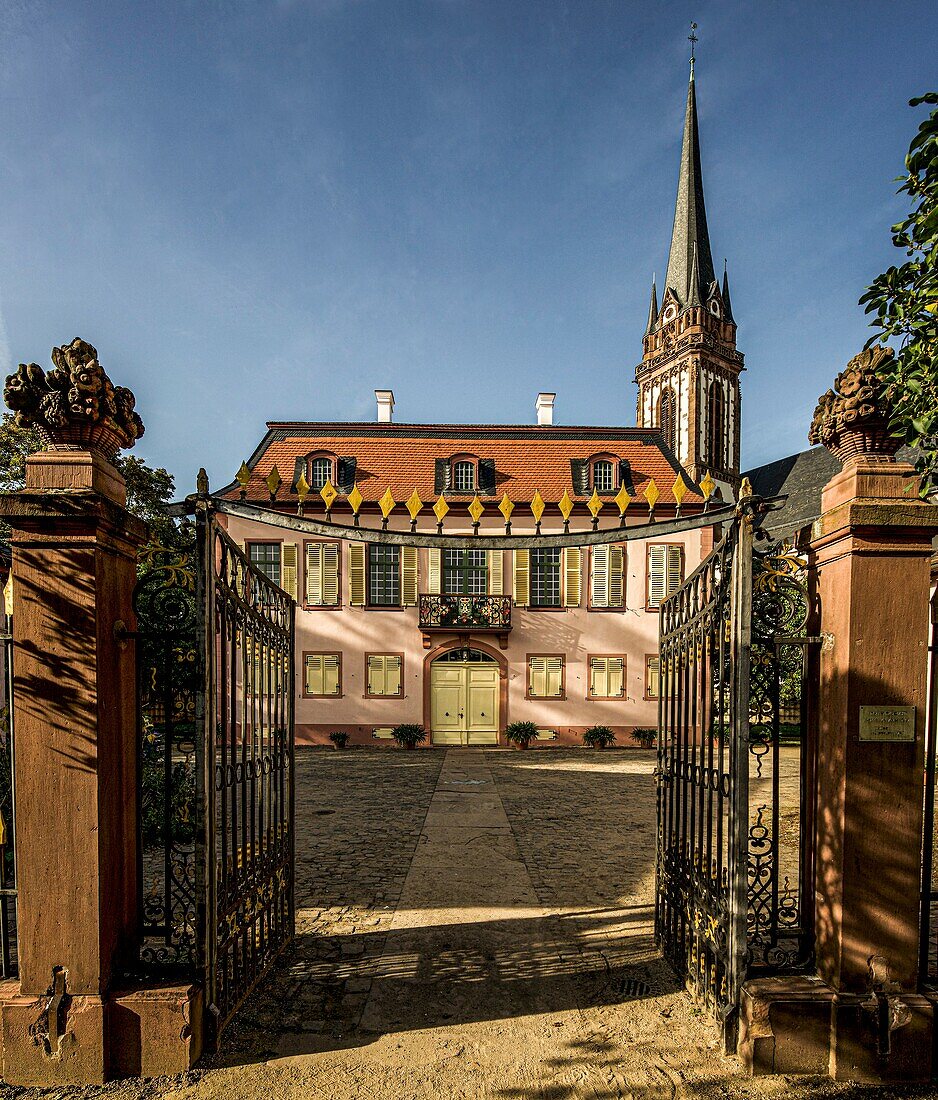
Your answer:
[[[919,891],[938,507],[875,403],[883,349],[851,360],[810,441],[843,469],[812,547],[820,601],[816,790],[817,974],[747,983],[741,1054],[754,1071],[928,1080],[933,1005],[919,994]],[[807,884],[805,889],[809,889]]]

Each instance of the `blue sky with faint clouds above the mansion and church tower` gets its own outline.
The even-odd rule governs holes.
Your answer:
[[[0,367],[81,336],[190,492],[268,419],[634,424],[691,20],[743,463],[895,262],[926,2],[0,0]]]

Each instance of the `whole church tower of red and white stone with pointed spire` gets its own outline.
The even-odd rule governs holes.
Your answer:
[[[694,481],[709,471],[726,496],[739,484],[742,371],[726,265],[720,286],[710,254],[692,55],[667,274],[660,306],[652,282],[644,354],[636,369],[638,426],[660,427]]]

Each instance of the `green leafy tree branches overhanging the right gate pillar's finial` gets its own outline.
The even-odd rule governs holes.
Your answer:
[[[916,450],[922,495],[938,492],[938,92],[909,100],[936,108],[919,125],[905,158],[900,194],[912,210],[893,226],[893,244],[907,260],[883,272],[861,305],[882,339],[896,345],[885,365],[883,394],[893,409],[893,431]]]

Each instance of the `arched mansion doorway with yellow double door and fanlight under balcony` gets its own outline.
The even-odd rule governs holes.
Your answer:
[[[457,642],[431,654],[424,683],[431,744],[498,744],[505,671],[488,647]]]

